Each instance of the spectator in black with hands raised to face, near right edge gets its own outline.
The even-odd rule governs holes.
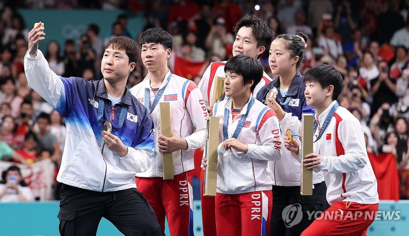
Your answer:
[[[378,70],[379,76],[370,81],[373,96],[371,107],[372,115],[378,110],[382,103],[386,102],[392,105],[398,101],[396,97],[396,80],[390,78],[387,62],[378,62]]]

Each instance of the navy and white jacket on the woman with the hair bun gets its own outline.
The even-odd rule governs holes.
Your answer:
[[[267,84],[257,93],[257,100],[266,104],[265,97],[267,92],[276,87],[280,91],[280,77],[271,83]],[[303,83],[303,76],[300,72],[297,72],[296,76],[291,81],[288,88],[287,95],[280,100],[279,97],[276,101],[280,104],[285,111],[283,119],[280,121],[281,133],[284,136],[285,130],[290,128],[291,131],[301,135],[302,114],[314,114],[315,108],[307,106],[305,96],[305,83]],[[301,185],[301,164],[291,156],[291,152],[284,147],[282,143],[282,158],[279,161],[271,161],[270,168],[272,173],[272,180],[274,185],[278,186],[300,186]],[[322,172],[313,173],[312,183],[321,183],[324,181]]]

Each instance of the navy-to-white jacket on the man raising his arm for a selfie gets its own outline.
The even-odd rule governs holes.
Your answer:
[[[30,87],[65,117],[65,149],[57,180],[99,192],[135,187],[135,174],[148,169],[154,151],[153,122],[147,109],[127,88],[121,102],[112,106],[103,79],[57,76],[40,50],[34,58],[26,54],[24,67]],[[112,134],[128,147],[124,157],[103,148],[100,127],[110,121],[112,111]]]

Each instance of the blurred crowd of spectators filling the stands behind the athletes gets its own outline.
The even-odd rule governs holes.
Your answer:
[[[245,13],[257,15],[277,34],[303,32],[309,38],[300,71],[304,74],[326,63],[342,74],[345,86],[338,100],[340,105],[360,120],[370,157],[393,156],[396,168],[392,170],[399,175],[399,198],[409,199],[409,0],[3,1],[0,159],[28,165],[51,159],[57,172],[64,149],[64,121],[27,85],[23,62],[31,22],[24,22],[17,12],[19,8],[141,11],[144,29],[162,27],[172,34],[171,70],[179,69],[180,60],[198,63],[195,72],[181,75],[196,83],[210,62],[232,56],[232,29]],[[131,35],[126,14],[112,22],[110,35],[99,34],[96,19],[76,41],[66,39],[64,45],[49,42],[44,55],[57,75],[101,79],[103,46],[111,37],[120,35]],[[267,53],[260,62],[265,72],[276,78],[268,66]],[[146,74],[139,61],[127,86],[139,83]],[[4,145],[14,152],[2,152],[6,150]]]

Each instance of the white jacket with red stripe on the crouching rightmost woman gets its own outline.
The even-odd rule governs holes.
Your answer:
[[[330,106],[319,117],[320,127],[330,112]],[[368,153],[359,121],[344,107],[338,107],[322,137],[313,144],[314,153],[323,160],[314,171],[322,170],[327,185],[327,201],[351,201],[360,204],[379,202],[377,181],[369,162]]]

